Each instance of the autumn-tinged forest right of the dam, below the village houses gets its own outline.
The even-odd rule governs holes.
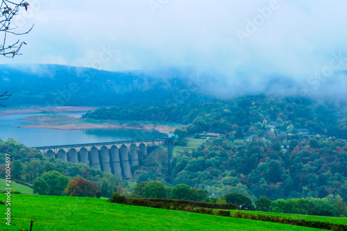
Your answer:
[[[171,164],[174,185],[214,194],[234,191],[253,200],[339,194],[347,200],[347,146],[336,138],[304,135],[288,143],[285,137],[271,141],[254,136],[250,142],[214,139],[192,153],[178,153]]]

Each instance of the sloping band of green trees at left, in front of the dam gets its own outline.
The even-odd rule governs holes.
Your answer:
[[[116,178],[114,175],[90,168],[82,163],[73,164],[60,159],[54,159],[53,157],[47,158],[35,148],[27,148],[13,139],[8,139],[6,142],[0,139],[1,176],[6,176],[6,154],[11,156],[11,177],[31,184],[35,183],[35,179],[40,178],[44,173],[58,171],[58,173],[62,173],[63,176],[71,179],[83,177],[96,182],[101,188],[103,196],[112,196],[120,182],[119,178]]]

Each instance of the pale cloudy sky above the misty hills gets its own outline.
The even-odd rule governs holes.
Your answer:
[[[302,79],[324,71],[329,77],[347,69],[344,0],[28,2],[13,25],[19,32],[35,26],[11,38],[27,45],[0,63],[109,71],[189,66],[230,79],[240,73]]]

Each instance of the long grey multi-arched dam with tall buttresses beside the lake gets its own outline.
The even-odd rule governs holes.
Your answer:
[[[60,158],[74,164],[82,162],[94,169],[112,173],[120,179],[128,179],[133,176],[133,167],[141,164],[149,151],[161,145],[167,145],[167,139],[43,146],[35,148],[46,155],[46,157]]]

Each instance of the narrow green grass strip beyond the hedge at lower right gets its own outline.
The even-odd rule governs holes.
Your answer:
[[[235,214],[236,211],[231,211],[231,214]],[[240,211],[248,214],[264,214],[269,216],[281,216],[290,219],[303,219],[306,221],[325,221],[335,224],[347,225],[347,217],[332,217],[332,216],[309,216],[299,214],[279,214],[275,212],[257,212],[257,211]]]

